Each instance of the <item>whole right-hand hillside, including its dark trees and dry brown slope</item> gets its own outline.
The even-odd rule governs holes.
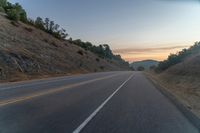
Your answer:
[[[170,55],[159,67],[150,75],[200,117],[200,43]]]

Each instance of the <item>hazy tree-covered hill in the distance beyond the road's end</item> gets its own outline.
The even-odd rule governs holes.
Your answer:
[[[138,67],[142,66],[147,70],[151,66],[157,66],[157,65],[158,65],[158,61],[156,61],[156,60],[143,60],[143,61],[137,61],[137,62],[131,63],[130,67],[137,70]]]

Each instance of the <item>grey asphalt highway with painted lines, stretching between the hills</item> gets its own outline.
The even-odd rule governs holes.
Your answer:
[[[141,72],[0,85],[0,133],[198,133]]]

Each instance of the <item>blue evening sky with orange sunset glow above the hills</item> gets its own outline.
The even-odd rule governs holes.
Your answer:
[[[73,39],[109,44],[132,62],[164,60],[200,41],[199,0],[9,0],[48,17]]]

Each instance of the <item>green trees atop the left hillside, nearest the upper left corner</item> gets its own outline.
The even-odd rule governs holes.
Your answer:
[[[58,39],[65,39],[68,36],[65,29],[60,28],[60,25],[55,24],[49,18],[45,18],[44,20],[41,17],[37,17],[35,20],[28,18],[26,11],[19,3],[12,4],[7,0],[0,0],[0,12],[5,12],[7,17],[13,21],[21,21],[32,25]]]

